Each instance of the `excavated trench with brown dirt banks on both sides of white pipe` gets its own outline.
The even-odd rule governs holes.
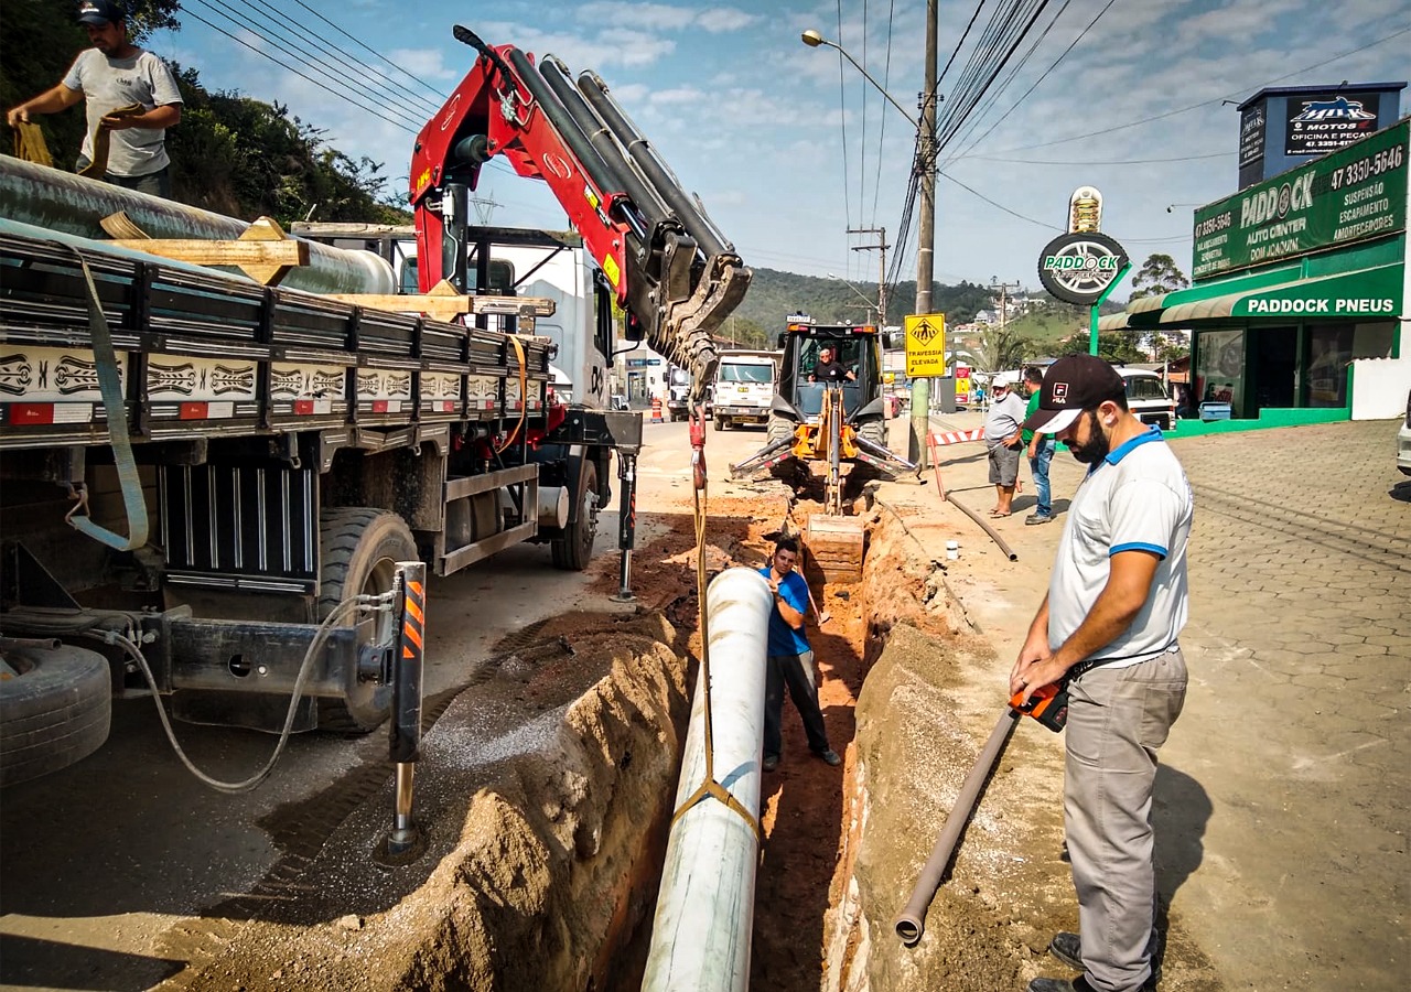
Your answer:
[[[782,509],[717,502],[708,567],[766,560]],[[785,762],[762,797],[752,986],[1023,988],[1048,934],[1074,926],[1060,752],[1037,728],[1016,735],[924,937],[904,947],[893,920],[999,715],[1007,666],[950,595],[928,550],[941,545],[909,526],[913,511],[879,502],[865,516],[864,580],[828,587],[820,607],[835,619],[811,634],[847,762],[809,761],[786,707]],[[286,824],[337,823],[289,831],[260,886],[176,927],[166,950],[193,967],[161,988],[636,989],[698,649],[690,522],[666,524],[638,556],[636,612],[529,628],[430,707],[418,862],[367,857],[389,809],[385,766],[356,802],[330,787],[284,810]],[[615,573],[598,586],[615,588]]]

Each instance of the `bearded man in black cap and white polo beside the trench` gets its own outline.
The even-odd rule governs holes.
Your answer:
[[[1009,677],[1026,700],[1068,686],[1064,830],[1081,933],[1057,934],[1048,950],[1084,974],[1029,989],[1137,992],[1154,986],[1151,785],[1185,701],[1177,635],[1194,500],[1161,432],[1127,411],[1122,377],[1096,357],[1050,365],[1024,428],[1089,466]]]

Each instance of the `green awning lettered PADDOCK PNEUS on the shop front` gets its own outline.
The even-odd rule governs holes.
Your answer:
[[[1236,288],[1233,282],[1167,294],[1160,322],[1180,325],[1222,317],[1391,320],[1401,313],[1403,265],[1376,265],[1261,286]]]

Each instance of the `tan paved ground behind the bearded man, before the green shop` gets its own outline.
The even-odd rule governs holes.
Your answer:
[[[1192,684],[1161,752],[1160,875],[1230,989],[1407,985],[1411,480],[1395,471],[1395,432],[1173,442],[1197,495],[1181,636]],[[978,444],[944,449],[941,468],[947,488],[989,508]],[[1060,453],[1054,478],[1064,511],[1081,466]],[[952,569],[1002,655],[1017,649],[1060,533],[1024,526],[1030,505],[1026,485],[999,522],[1019,562],[976,529]]]

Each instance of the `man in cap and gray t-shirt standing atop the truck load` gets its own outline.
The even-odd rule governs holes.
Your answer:
[[[182,107],[171,69],[127,40],[127,13],[114,0],[83,0],[79,24],[93,48],[79,54],[58,86],[13,107],[10,127],[87,97],[87,134],[75,171],[169,198],[166,128],[181,121]]]

